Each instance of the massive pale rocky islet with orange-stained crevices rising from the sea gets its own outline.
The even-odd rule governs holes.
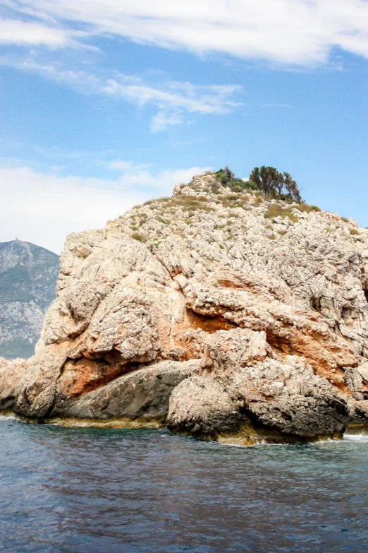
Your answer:
[[[0,407],[249,443],[368,424],[368,230],[213,174],[70,234]],[[21,367],[21,368],[19,368]]]

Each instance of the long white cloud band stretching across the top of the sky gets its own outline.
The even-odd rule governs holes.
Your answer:
[[[333,47],[368,57],[366,0],[8,0],[93,34],[282,64],[325,62]],[[66,23],[63,23],[64,26]],[[45,24],[47,28],[47,24]],[[46,31],[45,31],[46,32]]]

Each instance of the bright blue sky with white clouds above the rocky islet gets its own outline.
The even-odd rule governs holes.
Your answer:
[[[368,226],[367,0],[2,0],[0,242],[228,165]]]

